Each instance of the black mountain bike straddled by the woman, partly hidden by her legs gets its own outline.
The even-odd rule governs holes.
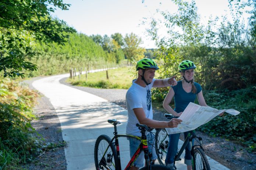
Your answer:
[[[167,119],[178,118],[178,117],[174,117],[171,114],[164,114],[164,115],[165,117],[167,117]],[[194,144],[192,146],[192,140],[198,141],[198,145]],[[192,133],[188,134],[181,149],[177,152],[177,155],[174,158],[174,167],[175,167],[175,161],[181,160],[180,156],[188,143],[190,143],[192,169],[193,170],[210,170],[209,162],[206,158],[204,149],[202,147],[202,137],[197,137],[195,134],[195,130],[193,130]],[[156,146],[157,159],[160,165],[165,165],[168,144],[169,144],[169,136],[166,132],[166,129],[156,129],[155,146]],[[175,169],[177,168],[175,167]]]

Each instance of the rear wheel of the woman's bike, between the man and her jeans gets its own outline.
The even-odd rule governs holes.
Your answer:
[[[167,148],[169,143],[169,136],[166,129],[156,130],[156,155],[160,165],[165,165],[165,159],[167,154]]]

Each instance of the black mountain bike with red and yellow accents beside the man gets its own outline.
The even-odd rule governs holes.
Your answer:
[[[109,119],[107,120],[107,122],[114,125],[114,137],[110,139],[109,136],[103,134],[97,138],[94,148],[94,160],[96,170],[121,170],[120,150],[118,143],[119,137],[131,137],[141,141],[141,144],[132,156],[132,159],[129,161],[128,165],[125,167],[125,170],[129,170],[131,168],[132,164],[138,158],[141,152],[144,152],[146,166],[141,168],[140,170],[170,170],[170,168],[167,166],[154,165],[152,153],[149,152],[147,146],[147,138],[145,134],[146,131],[150,132],[152,130],[150,127],[147,127],[146,125],[136,124],[136,126],[141,130],[142,134],[141,137],[138,137],[127,134],[117,134],[117,124],[120,124],[120,122],[115,119]]]

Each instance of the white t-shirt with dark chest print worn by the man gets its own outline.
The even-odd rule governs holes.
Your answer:
[[[146,87],[142,87],[132,81],[132,86],[126,93],[126,106],[128,111],[128,121],[126,125],[126,134],[135,136],[141,136],[141,132],[136,126],[139,123],[136,115],[134,114],[134,108],[143,108],[146,117],[153,119],[152,103],[151,103],[151,88],[154,84],[155,79],[152,83]]]

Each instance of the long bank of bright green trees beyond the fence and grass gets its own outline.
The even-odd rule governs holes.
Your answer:
[[[134,63],[145,57],[155,58],[154,49],[139,47],[141,38],[133,33],[125,37],[120,33],[112,34],[111,37],[86,36],[83,33],[70,33],[68,36],[64,45],[30,42],[40,55],[29,58],[30,62],[38,66],[38,70],[30,72],[29,76],[68,73],[71,67],[103,68],[110,64],[120,64],[124,59]],[[134,41],[135,44],[132,44]]]

